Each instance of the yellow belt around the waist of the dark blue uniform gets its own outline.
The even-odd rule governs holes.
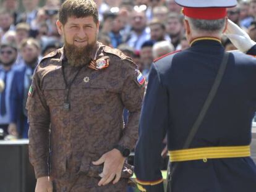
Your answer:
[[[250,146],[226,146],[226,147],[207,147],[169,151],[171,162],[193,161],[202,159],[220,159],[232,157],[249,157]]]

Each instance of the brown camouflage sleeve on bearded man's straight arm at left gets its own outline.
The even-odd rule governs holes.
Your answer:
[[[49,154],[49,108],[46,104],[38,67],[33,75],[32,85],[28,92],[27,100],[29,158],[35,169],[36,178],[48,176]]]

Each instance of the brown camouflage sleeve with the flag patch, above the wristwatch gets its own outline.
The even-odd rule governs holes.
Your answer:
[[[129,111],[129,119],[118,144],[131,150],[134,149],[138,139],[139,117],[145,91],[145,79],[143,81],[142,77],[141,84],[137,81],[140,72],[137,70],[137,65],[131,59],[123,59],[122,62],[121,73],[124,74],[124,77],[122,77],[124,83],[121,91],[121,100],[124,107]]]

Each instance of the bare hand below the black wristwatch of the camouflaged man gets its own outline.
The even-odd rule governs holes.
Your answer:
[[[113,179],[113,184],[117,183],[121,178],[122,167],[124,166],[125,157],[117,149],[112,149],[103,154],[98,161],[92,162],[93,165],[104,163],[103,172],[100,173],[101,180],[99,186],[107,185]],[[115,178],[116,177],[116,178]]]

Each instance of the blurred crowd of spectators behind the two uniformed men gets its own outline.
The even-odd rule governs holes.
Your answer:
[[[61,0],[2,0],[0,9],[0,128],[4,135],[28,137],[27,101],[40,59],[62,47],[56,27]],[[186,49],[182,9],[174,0],[97,0],[98,41],[131,57],[147,79],[154,59]],[[25,10],[20,11],[20,7]],[[228,17],[256,41],[256,1],[239,1]],[[226,50],[236,49],[223,37]]]

